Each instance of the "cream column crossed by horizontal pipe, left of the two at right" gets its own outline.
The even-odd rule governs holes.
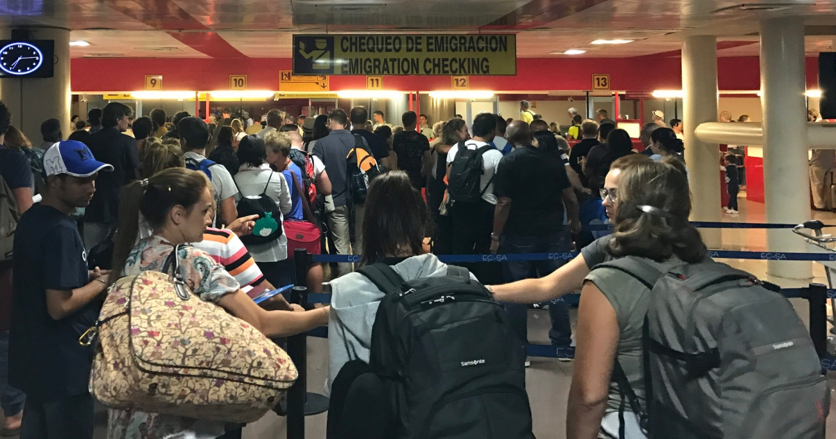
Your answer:
[[[691,180],[691,221],[720,221],[720,147],[696,138],[697,125],[717,120],[717,42],[691,36],[682,43],[682,125]],[[708,248],[720,248],[720,229],[702,229]]]

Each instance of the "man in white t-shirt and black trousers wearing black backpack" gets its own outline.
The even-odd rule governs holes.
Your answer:
[[[487,254],[491,250],[491,232],[493,229],[493,211],[497,205],[497,197],[493,195],[493,175],[497,171],[502,152],[497,151],[491,142],[497,133],[497,116],[482,113],[473,120],[473,138],[466,140],[464,146],[468,150],[479,150],[488,146],[482,154],[482,176],[479,179],[479,191],[482,197],[477,202],[457,202],[451,191],[453,203],[450,208],[453,226],[453,254]],[[453,182],[459,176],[451,176],[453,162],[459,154],[459,145],[453,145],[447,153],[447,180]],[[451,180],[452,177],[452,180]],[[477,278],[483,282],[485,269],[474,267]],[[490,268],[492,271],[493,268]]]

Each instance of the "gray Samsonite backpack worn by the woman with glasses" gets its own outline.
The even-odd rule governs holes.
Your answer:
[[[714,262],[668,273],[636,257],[603,267],[651,290],[642,336],[646,410],[617,356],[613,369],[621,401],[648,437],[824,437],[827,380],[803,322],[771,285]],[[623,438],[624,402],[619,421]]]

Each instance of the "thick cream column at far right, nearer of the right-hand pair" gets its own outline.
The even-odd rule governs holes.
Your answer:
[[[804,101],[804,22],[772,18],[761,22],[763,181],[767,222],[798,224],[810,219],[807,108]],[[788,230],[767,230],[770,252],[803,252],[802,239]],[[767,274],[812,278],[808,262],[768,261]]]

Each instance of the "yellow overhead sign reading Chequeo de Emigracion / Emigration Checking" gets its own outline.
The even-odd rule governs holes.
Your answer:
[[[517,37],[293,35],[293,74],[517,74]]]

